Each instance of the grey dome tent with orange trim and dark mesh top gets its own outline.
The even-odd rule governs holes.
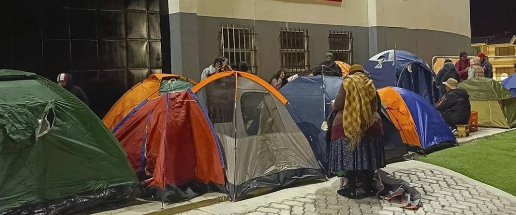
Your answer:
[[[192,91],[220,139],[233,201],[326,178],[287,100],[261,78],[222,72]]]

